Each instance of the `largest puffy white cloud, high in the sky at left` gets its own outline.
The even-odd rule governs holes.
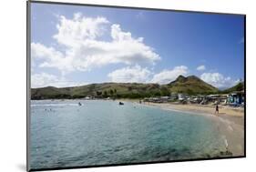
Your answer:
[[[134,38],[124,32],[120,25],[113,24],[105,17],[85,17],[75,14],[72,19],[58,17],[57,33],[53,38],[62,47],[32,43],[32,59],[41,59],[40,67],[54,67],[63,73],[89,71],[95,67],[110,64],[151,64],[160,56],[144,43],[143,37]],[[104,41],[102,35],[110,36]]]

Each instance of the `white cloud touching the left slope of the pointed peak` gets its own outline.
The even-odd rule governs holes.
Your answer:
[[[186,76],[189,74],[187,66],[176,66],[172,70],[163,70],[159,74],[153,76],[150,82],[159,84],[168,84],[174,81],[179,75]]]

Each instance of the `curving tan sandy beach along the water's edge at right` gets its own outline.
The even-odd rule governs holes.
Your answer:
[[[122,99],[138,104],[138,100]],[[223,144],[231,152],[232,157],[244,156],[244,108],[219,106],[219,114],[215,114],[215,106],[208,105],[181,105],[177,103],[149,103],[142,105],[158,106],[165,110],[186,112],[189,114],[203,115],[210,117],[216,123],[216,129],[223,138]]]

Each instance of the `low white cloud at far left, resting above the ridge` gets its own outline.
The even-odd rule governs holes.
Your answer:
[[[67,81],[66,78],[58,76],[40,73],[31,76],[31,87],[45,87],[45,86],[56,86],[56,87],[67,87],[67,86],[82,86],[87,85],[87,83],[76,83]]]

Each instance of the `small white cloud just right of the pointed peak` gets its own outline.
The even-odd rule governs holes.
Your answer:
[[[227,88],[236,85],[239,80],[233,80],[230,76],[225,77],[220,73],[203,73],[200,78],[212,86]]]

